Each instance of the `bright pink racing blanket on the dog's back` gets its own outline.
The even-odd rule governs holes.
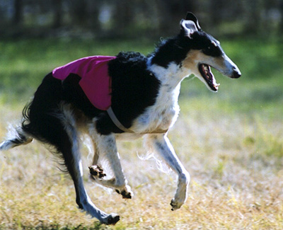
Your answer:
[[[91,56],[69,62],[62,67],[53,69],[56,79],[64,80],[69,74],[81,77],[79,85],[88,100],[100,110],[108,110],[111,105],[111,78],[108,75],[108,62],[115,57]]]

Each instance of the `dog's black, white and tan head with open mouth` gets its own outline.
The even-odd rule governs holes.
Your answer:
[[[193,13],[187,13],[186,18],[180,21],[180,26],[180,37],[187,43],[182,45],[190,47],[182,66],[190,69],[210,90],[217,91],[219,87],[210,67],[232,79],[241,76],[241,71],[227,57],[220,42],[200,28],[197,17]]]

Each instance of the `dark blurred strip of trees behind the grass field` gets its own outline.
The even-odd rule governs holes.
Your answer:
[[[283,33],[282,0],[0,0],[1,37],[152,38],[172,35],[192,11],[210,33]]]

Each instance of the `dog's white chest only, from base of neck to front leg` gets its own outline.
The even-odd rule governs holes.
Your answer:
[[[131,127],[135,132],[160,132],[168,130],[177,120],[180,108],[178,96],[180,85],[173,91],[169,87],[161,87],[156,103],[146,108],[145,112],[139,115]]]

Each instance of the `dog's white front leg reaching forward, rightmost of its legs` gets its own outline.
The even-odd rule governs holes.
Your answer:
[[[167,134],[151,134],[146,137],[146,144],[156,151],[164,161],[178,174],[178,188],[171,201],[172,210],[179,209],[187,200],[187,186],[190,183],[190,174],[175,154]]]

